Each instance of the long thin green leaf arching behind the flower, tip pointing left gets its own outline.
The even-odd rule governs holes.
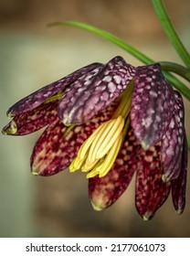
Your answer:
[[[129,52],[134,56],[136,59],[139,59],[142,61],[144,64],[153,64],[155,61],[153,59],[150,59],[146,55],[142,54],[141,51],[139,51],[136,48],[133,48],[131,45],[126,43],[125,41],[121,40],[119,37],[113,36],[111,33],[104,31],[98,27],[93,27],[89,24],[85,23],[80,23],[80,22],[75,22],[75,21],[60,21],[60,22],[54,22],[48,25],[49,27],[51,26],[72,26],[72,27],[79,27],[85,30],[90,31],[91,33],[98,35],[100,37],[103,37],[107,39],[108,41],[112,42],[113,44],[119,46],[120,48],[123,48],[125,51]],[[180,91],[186,99],[190,101],[190,90],[185,86],[183,82],[178,80],[174,75],[170,74],[169,72],[164,71],[164,76],[169,80],[174,87]]]

